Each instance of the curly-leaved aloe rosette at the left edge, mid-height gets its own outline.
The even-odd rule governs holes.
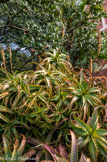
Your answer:
[[[1,71],[6,75],[5,79],[2,81],[1,95],[7,92],[4,97],[5,106],[9,106],[11,109],[20,106],[23,103],[23,99],[27,96],[29,92],[29,85],[24,79],[24,73],[13,73],[10,74],[5,69]]]

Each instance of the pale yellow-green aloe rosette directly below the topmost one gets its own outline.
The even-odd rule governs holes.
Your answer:
[[[40,67],[32,75],[32,84],[45,85],[49,89],[50,94],[52,93],[53,85],[61,82],[60,78],[64,77],[64,74],[61,71],[58,71],[51,64],[43,66],[40,64]]]

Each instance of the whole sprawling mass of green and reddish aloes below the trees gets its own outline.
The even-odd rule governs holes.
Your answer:
[[[34,156],[41,161],[86,161],[85,156],[96,160],[99,152],[104,158],[107,147],[105,120],[102,120],[106,117],[105,84],[97,83],[89,71],[73,68],[60,51],[53,53],[44,53],[35,71],[10,73],[6,66],[1,67],[0,113],[6,120],[4,117],[0,120],[0,135],[13,144],[23,134],[24,139],[26,137],[24,151],[32,150],[33,145]],[[98,127],[96,106],[102,129]],[[74,115],[77,124],[73,121]],[[71,128],[79,136],[77,141]],[[77,143],[81,146],[78,153]],[[4,156],[2,145],[3,142],[0,151]],[[84,146],[87,152],[81,155]],[[93,154],[89,154],[90,147]],[[15,154],[17,151],[18,148]],[[10,157],[12,154],[14,151]]]

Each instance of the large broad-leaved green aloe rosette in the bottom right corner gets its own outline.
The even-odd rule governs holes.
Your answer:
[[[79,148],[88,147],[92,161],[97,160],[99,152],[107,158],[107,130],[98,126],[98,112],[95,110],[86,124],[74,117],[77,124],[71,122],[71,127],[78,137]]]

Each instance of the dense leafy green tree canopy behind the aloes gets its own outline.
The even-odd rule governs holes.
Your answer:
[[[90,58],[106,58],[107,42],[97,29],[105,15],[103,3],[104,0],[1,0],[0,43],[14,42],[30,52],[33,48],[31,55],[35,57],[60,48],[74,65],[87,67]],[[102,42],[98,40],[101,38]]]

